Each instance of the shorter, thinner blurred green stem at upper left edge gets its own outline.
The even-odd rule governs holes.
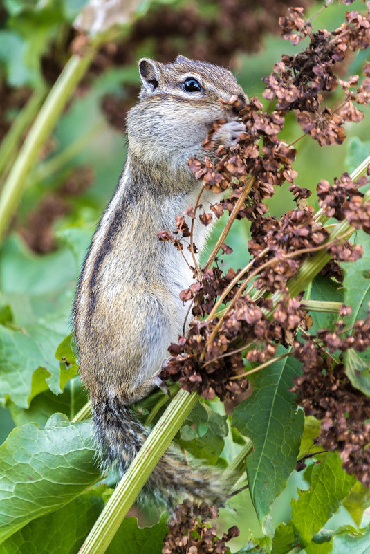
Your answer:
[[[21,136],[35,117],[41,102],[45,98],[45,94],[45,86],[40,86],[39,89],[33,93],[26,106],[17,115],[17,118],[15,118],[12,127],[10,127],[10,130],[6,133],[6,137],[1,142],[0,174],[3,174],[2,177],[5,177],[7,172],[6,170],[12,163],[12,159],[15,157],[15,151],[19,145]]]

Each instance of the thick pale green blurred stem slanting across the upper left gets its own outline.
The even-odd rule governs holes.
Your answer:
[[[0,241],[3,240],[10,220],[17,210],[24,191],[26,178],[35,164],[39,149],[50,135],[57,118],[71,98],[75,86],[91,63],[95,50],[89,49],[84,57],[73,55],[39,111],[33,126],[12,166],[0,196]]]

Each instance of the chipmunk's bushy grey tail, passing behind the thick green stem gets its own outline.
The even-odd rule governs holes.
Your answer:
[[[123,475],[149,430],[136,419],[132,408],[118,398],[100,398],[93,405],[93,427],[102,466],[107,470],[110,465],[117,465]],[[230,491],[228,487],[230,483],[225,483],[215,468],[190,467],[181,452],[169,447],[149,477],[144,494],[150,491],[156,501],[164,501],[168,506],[174,506],[186,497],[221,504]]]

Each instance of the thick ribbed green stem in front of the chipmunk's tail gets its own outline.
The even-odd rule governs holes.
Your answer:
[[[198,398],[198,394],[195,392],[189,394],[183,389],[178,392],[151,431],[127,473],[118,483],[80,548],[79,554],[104,554],[124,516],[138,497],[140,490],[165,453],[177,430],[196,405]]]

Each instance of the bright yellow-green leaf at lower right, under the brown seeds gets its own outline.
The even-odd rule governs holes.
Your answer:
[[[336,452],[329,452],[322,463],[313,465],[311,487],[300,490],[298,499],[291,502],[295,537],[302,548],[337,511],[354,481],[342,470],[342,460]]]

